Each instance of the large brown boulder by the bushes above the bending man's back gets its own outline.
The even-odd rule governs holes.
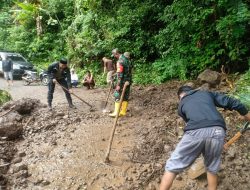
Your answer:
[[[201,83],[208,83],[211,86],[215,87],[216,85],[220,84],[221,75],[216,71],[206,69],[205,71],[199,74],[197,79]]]

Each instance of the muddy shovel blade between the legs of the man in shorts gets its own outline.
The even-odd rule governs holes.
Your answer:
[[[203,159],[199,159],[188,170],[188,177],[190,179],[196,179],[204,173],[206,173],[206,167],[204,165]]]

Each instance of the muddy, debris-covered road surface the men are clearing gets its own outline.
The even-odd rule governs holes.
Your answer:
[[[182,136],[184,124],[177,115],[176,96],[180,85],[171,81],[132,88],[129,111],[118,121],[107,164],[104,159],[114,123],[102,112],[108,88],[73,89],[93,105],[90,111],[74,97],[77,109],[69,109],[62,89],[57,87],[50,112],[46,86],[23,86],[15,81],[7,88],[0,80],[0,88],[10,91],[14,99],[0,114],[15,106],[0,122],[12,122],[9,126],[16,129],[1,135],[1,189],[158,189],[165,161]],[[113,109],[112,98],[108,109]],[[239,117],[235,112],[221,112],[229,139],[239,130]],[[219,189],[249,189],[249,142],[246,133],[223,153]],[[173,185],[175,190],[206,187],[206,176],[191,180],[187,172],[178,175]]]

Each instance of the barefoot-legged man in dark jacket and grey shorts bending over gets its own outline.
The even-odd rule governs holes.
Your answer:
[[[166,163],[160,190],[169,190],[176,175],[189,167],[200,154],[204,157],[207,170],[207,188],[216,190],[216,174],[226,132],[225,121],[216,107],[236,110],[247,121],[250,121],[250,113],[240,101],[217,92],[182,86],[178,90],[178,97],[178,114],[186,126],[181,141]]]

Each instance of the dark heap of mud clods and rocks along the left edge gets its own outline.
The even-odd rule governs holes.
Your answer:
[[[9,179],[27,177],[27,166],[19,164],[23,153],[18,153],[15,142],[22,138],[25,118],[43,107],[39,100],[22,99],[4,104],[0,117],[0,185],[8,186]],[[11,170],[10,170],[11,168]],[[12,176],[12,174],[14,174]]]

